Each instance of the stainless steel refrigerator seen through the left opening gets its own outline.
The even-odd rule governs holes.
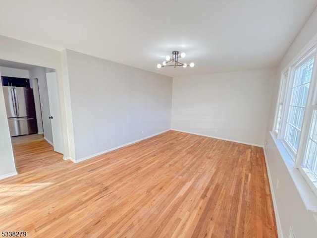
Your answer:
[[[11,136],[38,132],[32,88],[3,86]]]

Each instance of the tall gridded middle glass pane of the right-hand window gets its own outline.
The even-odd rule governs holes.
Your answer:
[[[306,62],[295,70],[284,135],[286,143],[295,154],[297,153],[299,137],[302,129],[313,64],[314,57],[306,60]]]

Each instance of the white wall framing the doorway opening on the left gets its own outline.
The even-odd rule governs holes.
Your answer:
[[[71,130],[72,124],[66,123],[66,111],[71,111],[70,108],[67,108],[68,105],[65,101],[64,94],[64,80],[62,77],[62,65],[61,65],[61,54],[58,51],[48,49],[45,47],[29,44],[23,41],[15,40],[12,38],[0,36],[0,59],[9,60],[13,62],[26,63],[31,65],[38,65],[48,68],[55,68],[57,72],[57,81],[58,81],[58,90],[59,90],[59,99],[61,105],[61,118],[63,124],[63,135],[64,135],[64,156],[68,157],[74,153],[75,146],[69,144],[72,140],[69,138],[73,137]],[[0,105],[4,103],[3,96],[0,97]],[[0,115],[6,115],[5,108],[0,107]],[[1,151],[1,163],[13,164],[13,158],[9,155],[12,151],[10,144],[10,136],[5,134],[7,128],[7,119],[0,116],[0,134],[3,137],[0,143]],[[3,126],[2,126],[3,125]],[[1,139],[2,139],[1,137]],[[3,162],[4,163],[4,162]],[[2,167],[1,167],[2,168]],[[0,176],[11,173],[10,169],[1,169]]]

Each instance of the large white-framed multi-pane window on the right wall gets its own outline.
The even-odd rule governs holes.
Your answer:
[[[317,195],[316,49],[281,75],[273,131]]]

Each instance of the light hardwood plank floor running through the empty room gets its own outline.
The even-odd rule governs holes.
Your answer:
[[[263,149],[168,131],[79,164],[14,145],[0,231],[28,237],[276,238]]]

